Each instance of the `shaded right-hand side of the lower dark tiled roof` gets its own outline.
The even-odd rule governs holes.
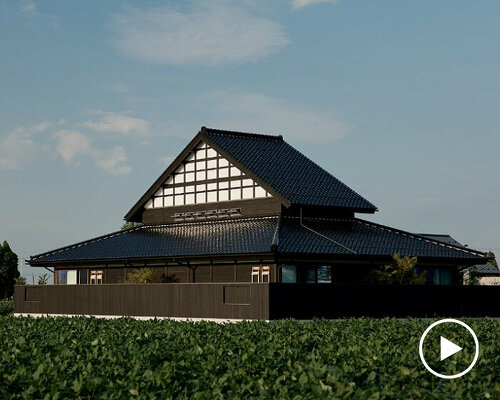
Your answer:
[[[483,254],[462,246],[375,224],[361,219],[284,218],[280,229],[280,253],[357,254],[365,256],[410,255],[454,259],[482,259]],[[318,234],[319,233],[319,234]],[[320,236],[321,235],[321,236]]]

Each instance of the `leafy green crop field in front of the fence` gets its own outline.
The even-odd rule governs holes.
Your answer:
[[[421,320],[210,322],[0,317],[2,399],[500,399],[500,322],[481,355],[427,372]]]

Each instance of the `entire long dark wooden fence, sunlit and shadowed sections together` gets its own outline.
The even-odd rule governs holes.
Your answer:
[[[500,317],[499,286],[151,283],[16,286],[18,314],[217,319]]]

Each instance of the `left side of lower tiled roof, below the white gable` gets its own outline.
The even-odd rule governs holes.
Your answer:
[[[34,256],[30,263],[269,253],[277,219],[142,225]]]

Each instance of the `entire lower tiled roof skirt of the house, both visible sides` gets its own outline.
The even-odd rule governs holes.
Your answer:
[[[484,254],[361,219],[278,215],[142,225],[33,256],[31,265],[128,259],[272,254],[392,256],[480,263]]]

